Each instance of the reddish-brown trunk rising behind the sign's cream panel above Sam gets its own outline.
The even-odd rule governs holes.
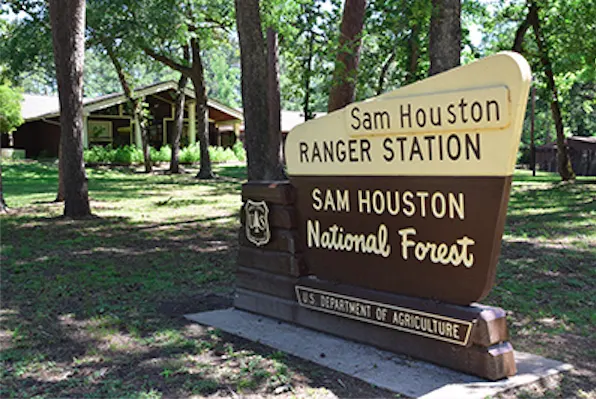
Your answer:
[[[366,0],[346,0],[344,4],[328,112],[343,108],[354,101],[365,10]]]

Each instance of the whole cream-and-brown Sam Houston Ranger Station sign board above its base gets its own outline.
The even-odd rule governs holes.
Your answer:
[[[457,304],[486,296],[530,80],[501,53],[292,130],[309,272]]]

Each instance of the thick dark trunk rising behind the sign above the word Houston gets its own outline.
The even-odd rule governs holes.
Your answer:
[[[460,65],[461,0],[432,0],[429,76]]]

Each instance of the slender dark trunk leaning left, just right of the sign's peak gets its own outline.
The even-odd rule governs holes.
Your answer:
[[[538,4],[536,4],[536,2],[531,2],[530,10],[528,11],[528,19],[534,28],[534,35],[536,36],[536,43],[538,44],[538,51],[540,53],[540,62],[544,67],[544,73],[546,75],[546,84],[552,93],[550,109],[555,122],[555,130],[557,131],[557,169],[559,175],[561,175],[561,180],[574,180],[575,173],[573,172],[571,160],[569,159],[569,154],[567,152],[567,143],[565,142],[563,118],[561,117],[561,107],[559,105],[559,95],[555,84],[555,75],[548,55],[548,46],[545,43],[544,36],[540,29],[540,17],[538,11]]]

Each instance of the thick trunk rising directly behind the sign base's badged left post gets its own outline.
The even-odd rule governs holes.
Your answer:
[[[284,177],[279,151],[270,134],[267,54],[261,30],[259,0],[235,0],[240,59],[242,104],[248,158],[248,180],[279,180]]]

